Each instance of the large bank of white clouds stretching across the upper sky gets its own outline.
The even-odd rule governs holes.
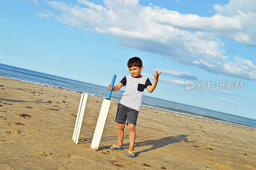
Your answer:
[[[224,43],[217,38],[224,36],[236,43],[255,45],[255,1],[231,0],[227,5],[215,5],[217,13],[211,17],[182,14],[153,4],[142,6],[138,0],[105,0],[104,6],[86,0],[74,5],[45,2],[60,12],[37,15],[51,15],[82,30],[115,37],[123,46],[161,54],[212,73],[256,80],[252,61],[241,58],[243,63],[230,62]]]

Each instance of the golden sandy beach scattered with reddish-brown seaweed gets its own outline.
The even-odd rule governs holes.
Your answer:
[[[256,168],[256,129],[147,107],[141,107],[137,121],[136,157],[125,156],[127,126],[124,150],[109,150],[117,143],[113,100],[99,151],[94,151],[90,145],[103,100],[95,96],[88,98],[76,144],[72,135],[80,97],[0,77],[0,169]]]

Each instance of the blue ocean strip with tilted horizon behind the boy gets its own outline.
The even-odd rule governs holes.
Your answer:
[[[72,80],[64,77],[59,77],[51,74],[40,73],[24,68],[9,66],[0,63],[0,76],[7,77],[19,81],[41,84],[44,86],[61,87],[77,92],[88,93],[90,95],[107,97],[108,88],[91,84],[83,81]],[[111,99],[120,100],[123,90],[118,90],[112,93]],[[200,107],[190,106],[187,104],[176,103],[159,98],[143,96],[142,106],[156,108],[164,111],[171,111],[184,115],[216,120],[235,125],[241,125],[250,128],[256,128],[256,120],[244,118],[236,115],[231,115],[223,112],[217,112]]]

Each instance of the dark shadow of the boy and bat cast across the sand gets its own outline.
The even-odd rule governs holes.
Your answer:
[[[151,148],[147,148],[142,151],[136,152],[136,156],[138,156],[140,153],[152,151],[152,150],[164,147],[164,146],[172,144],[172,143],[178,143],[181,141],[184,141],[184,142],[195,142],[196,141],[196,140],[188,141],[188,139],[186,137],[188,137],[188,135],[166,136],[166,137],[163,137],[160,139],[152,139],[152,140],[147,140],[147,141],[143,141],[143,142],[135,142],[134,148],[140,147],[140,146],[152,146]],[[123,144],[124,149],[128,149],[129,146],[130,146],[130,143]],[[103,149],[106,149],[106,146],[99,147],[99,150],[103,150]]]

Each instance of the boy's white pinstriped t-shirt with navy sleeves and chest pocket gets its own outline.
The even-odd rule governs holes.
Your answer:
[[[148,77],[126,75],[120,82],[125,86],[125,91],[119,103],[140,112],[143,91],[152,85]]]

